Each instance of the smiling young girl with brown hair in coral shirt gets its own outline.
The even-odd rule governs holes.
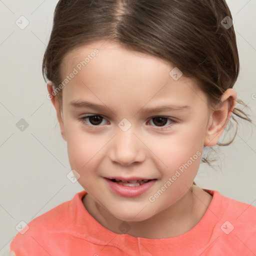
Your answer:
[[[60,0],[43,73],[84,190],[10,255],[255,255],[256,207],[193,182],[230,117],[251,122],[238,71],[224,0]]]

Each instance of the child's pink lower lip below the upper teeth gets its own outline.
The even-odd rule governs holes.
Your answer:
[[[108,178],[105,178],[106,182],[108,183],[110,189],[121,196],[125,197],[136,197],[142,193],[144,193],[146,190],[148,190],[156,181],[156,179],[152,179],[142,185],[139,186],[123,186],[120,184],[117,184],[116,182],[111,181]]]

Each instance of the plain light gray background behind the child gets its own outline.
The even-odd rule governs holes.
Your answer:
[[[66,174],[70,166],[55,109],[46,98],[41,62],[57,0],[0,0],[0,253],[15,226],[69,200],[82,190]],[[227,0],[240,57],[237,95],[256,122],[256,0]],[[21,16],[29,24],[20,29]],[[24,23],[23,23],[24,24]],[[254,99],[253,99],[254,95]],[[20,131],[24,118],[29,126]],[[255,127],[243,122],[233,143],[223,147],[215,170],[201,164],[196,183],[256,206]]]

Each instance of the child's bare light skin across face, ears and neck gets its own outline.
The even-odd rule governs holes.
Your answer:
[[[95,48],[99,53],[63,87],[62,109],[57,97],[51,98],[71,169],[79,173],[78,182],[88,192],[83,204],[115,233],[121,233],[118,225],[126,221],[131,227],[128,234],[135,237],[183,234],[199,222],[212,199],[192,185],[201,155],[154,202],[148,198],[179,166],[196,152],[202,153],[204,145],[217,143],[234,108],[236,92],[227,89],[212,109],[194,79],[182,75],[175,81],[169,75],[171,64],[113,41],[97,41],[68,52],[61,65],[62,77]],[[47,89],[51,94],[51,82]],[[70,106],[72,100],[88,100],[108,109],[75,108]],[[188,105],[190,109],[141,111],[165,104]],[[85,125],[80,118],[87,114],[102,116],[101,123],[99,120],[99,125],[92,127],[87,118],[90,126]],[[155,116],[177,122],[157,123]],[[131,124],[127,131],[118,126],[123,118]],[[157,180],[146,192],[130,198],[113,193],[103,178],[107,176]]]

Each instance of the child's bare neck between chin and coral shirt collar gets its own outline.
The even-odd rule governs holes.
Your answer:
[[[143,220],[127,222],[131,227],[127,234],[148,239],[168,238],[181,235],[193,228],[207,210],[212,196],[201,188],[192,185],[174,204]],[[115,218],[88,194],[83,204],[89,214],[101,225],[115,233],[121,233],[118,225],[122,220]]]

